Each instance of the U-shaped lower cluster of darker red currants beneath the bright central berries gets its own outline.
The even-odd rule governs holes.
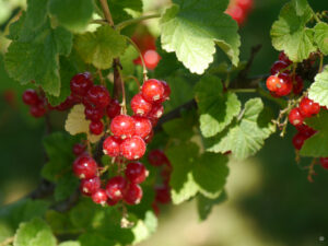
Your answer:
[[[78,156],[73,163],[73,172],[81,178],[80,190],[83,195],[92,197],[95,203],[102,206],[115,206],[120,200],[127,204],[140,202],[142,189],[139,184],[148,176],[148,171],[140,162],[128,163],[124,171],[125,177],[114,176],[107,181],[105,188],[102,188],[103,167],[85,153],[85,145],[75,144],[73,153]]]

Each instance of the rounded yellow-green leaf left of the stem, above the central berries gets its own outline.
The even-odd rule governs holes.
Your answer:
[[[78,35],[75,48],[86,63],[92,63],[98,69],[108,69],[113,59],[125,52],[127,42],[117,31],[105,25],[94,33]]]

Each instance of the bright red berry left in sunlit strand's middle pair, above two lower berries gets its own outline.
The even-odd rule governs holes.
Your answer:
[[[110,122],[110,131],[114,136],[119,138],[131,137],[136,132],[136,122],[131,116],[119,115]]]

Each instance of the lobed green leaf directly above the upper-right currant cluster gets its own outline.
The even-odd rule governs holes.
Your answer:
[[[311,52],[316,51],[314,32],[306,27],[312,16],[308,5],[302,15],[297,15],[294,5],[286,3],[271,28],[273,47],[279,51],[283,50],[292,61],[307,59]]]

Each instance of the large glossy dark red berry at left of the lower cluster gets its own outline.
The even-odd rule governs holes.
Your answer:
[[[92,178],[97,174],[97,163],[87,154],[80,155],[73,163],[73,173],[79,178]]]

